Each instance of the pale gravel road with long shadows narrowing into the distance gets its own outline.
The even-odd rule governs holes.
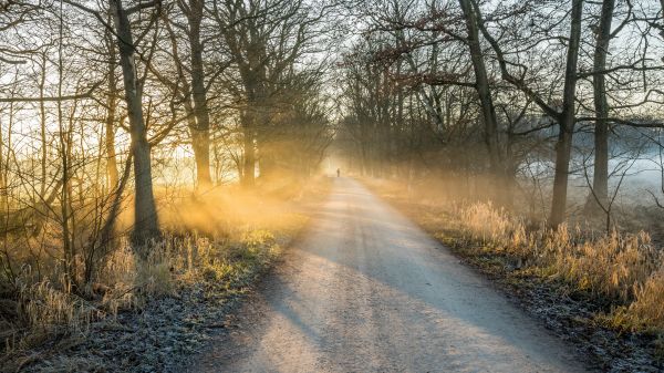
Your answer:
[[[359,182],[302,237],[191,372],[582,372],[550,335]]]

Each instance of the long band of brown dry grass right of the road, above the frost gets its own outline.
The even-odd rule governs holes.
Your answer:
[[[613,327],[664,333],[664,256],[647,232],[567,225],[551,230],[490,203],[456,204],[436,199],[430,188],[419,197],[396,183],[369,184],[443,240],[506,257],[512,269],[529,269],[613,304],[610,314],[598,315]]]

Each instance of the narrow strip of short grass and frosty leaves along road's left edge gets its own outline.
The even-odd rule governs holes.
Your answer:
[[[1,371],[176,372],[179,363],[198,352],[219,329],[227,328],[229,312],[294,234],[276,238],[261,234],[260,242],[252,236],[245,246],[226,250],[229,259],[222,271],[208,267],[174,276],[175,291],[151,298],[115,318],[91,322],[80,333],[51,335],[38,349],[13,351]]]

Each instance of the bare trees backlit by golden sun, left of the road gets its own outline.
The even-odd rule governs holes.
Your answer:
[[[229,178],[252,188],[313,173],[333,134],[334,9],[0,1],[4,274],[45,251],[73,284],[90,282],[129,201],[133,248],[147,258],[160,238],[159,190],[181,184],[185,168],[201,196]]]

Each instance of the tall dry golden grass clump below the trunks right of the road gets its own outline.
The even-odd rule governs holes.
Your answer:
[[[643,231],[598,235],[567,225],[554,230],[544,226],[527,229],[521,219],[485,203],[457,207],[455,215],[463,235],[485,250],[547,268],[550,276],[580,291],[619,303],[635,300],[662,262],[662,255]]]

